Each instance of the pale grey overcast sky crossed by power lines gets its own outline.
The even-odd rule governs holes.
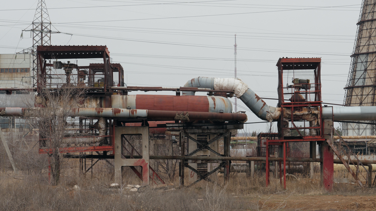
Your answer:
[[[2,1],[0,53],[32,45],[38,0]],[[342,104],[361,0],[45,0],[53,45],[106,45],[128,86],[183,86],[197,76],[238,78],[277,98],[279,57],[321,57],[323,101]],[[30,29],[30,27],[29,27]],[[68,33],[68,34],[64,34]],[[72,35],[69,35],[72,34]],[[103,62],[98,61],[98,62]],[[79,65],[96,63],[82,59]],[[144,92],[132,92],[141,94]],[[155,94],[156,92],[148,92]],[[159,92],[158,94],[174,94]],[[231,101],[234,99],[231,98]],[[276,106],[277,101],[265,99]],[[240,100],[248,122],[258,119]],[[266,125],[248,124],[247,131]]]

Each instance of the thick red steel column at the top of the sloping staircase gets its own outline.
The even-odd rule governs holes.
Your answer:
[[[322,165],[322,181],[324,188],[331,191],[333,188],[333,173],[334,173],[334,152],[327,142],[323,144],[323,165]]]

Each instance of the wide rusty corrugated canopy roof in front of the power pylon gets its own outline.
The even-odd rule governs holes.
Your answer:
[[[36,51],[44,59],[86,59],[109,57],[106,45],[39,45]]]

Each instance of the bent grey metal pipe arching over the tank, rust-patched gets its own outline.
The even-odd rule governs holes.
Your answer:
[[[199,87],[199,88],[209,88],[209,89],[215,89],[215,83],[219,83],[220,80],[229,80],[229,81],[237,81],[239,84],[235,87],[231,87],[231,89],[236,90],[237,86],[244,86],[245,84],[237,78],[209,78],[209,77],[196,77],[192,78],[191,80],[187,81],[187,83],[184,84],[184,87]],[[245,85],[246,86],[246,85]],[[220,86],[221,87],[221,86]],[[229,87],[227,87],[229,88]],[[223,87],[225,90],[226,86]],[[215,89],[218,90],[218,89]],[[182,92],[182,95],[194,95],[194,92]],[[275,107],[269,106],[266,104],[265,101],[263,101],[255,92],[252,91],[252,89],[247,89],[246,92],[241,93],[241,96],[237,96],[241,101],[244,102],[244,104],[247,105],[247,107],[255,113],[258,118],[265,120],[265,121],[272,121],[274,119],[275,115],[271,115],[276,110]],[[276,119],[278,117],[276,116]]]

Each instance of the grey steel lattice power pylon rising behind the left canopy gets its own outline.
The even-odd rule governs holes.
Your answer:
[[[22,53],[32,54],[33,59],[33,87],[36,85],[36,75],[37,75],[37,59],[36,59],[36,47],[38,45],[51,45],[51,21],[47,11],[46,4],[44,0],[38,1],[38,6],[35,11],[34,20],[31,25],[32,29],[25,29],[24,32],[31,32],[33,38],[33,46],[23,50]],[[59,32],[53,32],[59,33]]]

